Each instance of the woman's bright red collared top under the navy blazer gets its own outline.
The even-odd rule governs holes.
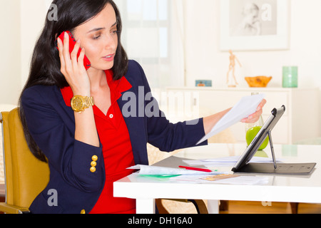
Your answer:
[[[135,165],[128,129],[117,103],[117,100],[121,98],[121,93],[132,86],[125,77],[113,81],[112,71],[106,71],[106,77],[111,90],[111,107],[107,115],[104,115],[96,105],[93,106],[96,128],[101,145],[103,145],[106,182],[91,214],[135,214],[135,199],[113,197],[113,182],[130,175],[133,171],[126,170],[126,168]],[[66,105],[71,106],[70,102],[73,97],[71,88],[61,89],[61,93]]]

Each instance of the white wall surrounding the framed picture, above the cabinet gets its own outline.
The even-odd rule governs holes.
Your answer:
[[[187,86],[196,79],[211,79],[214,87],[226,86],[229,53],[221,52],[220,1],[188,1]],[[290,0],[290,49],[287,51],[235,52],[240,86],[245,76],[272,76],[271,87],[282,86],[282,66],[299,67],[300,87],[321,87],[321,1]]]

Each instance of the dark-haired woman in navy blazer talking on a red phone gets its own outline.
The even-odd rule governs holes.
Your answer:
[[[131,174],[127,167],[148,165],[146,143],[163,151],[192,147],[228,110],[195,125],[174,125],[153,98],[128,107],[130,95],[138,98],[143,91],[145,97],[151,89],[141,66],[128,61],[121,46],[116,5],[111,0],[55,0],[53,4],[58,7],[58,21],[46,21],[20,99],[29,147],[49,163],[51,171],[49,184],[31,204],[31,212],[135,213],[133,199],[113,198],[113,182]],[[63,31],[71,31],[77,40],[71,54],[68,34],[63,41],[56,39]],[[88,71],[83,66],[85,53],[91,61]],[[71,108],[77,95],[89,100],[81,113]],[[141,114],[151,104],[158,115],[128,115]],[[257,120],[263,105],[244,121]],[[50,190],[58,194],[57,206],[48,204]]]

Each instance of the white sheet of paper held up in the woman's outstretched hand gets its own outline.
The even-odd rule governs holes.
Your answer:
[[[221,118],[212,128],[208,135],[205,135],[196,145],[208,140],[221,131],[230,128],[232,125],[239,123],[244,118],[256,112],[258,105],[265,98],[264,94],[249,95],[243,97],[226,115]]]

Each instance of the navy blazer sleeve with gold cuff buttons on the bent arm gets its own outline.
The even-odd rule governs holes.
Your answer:
[[[67,128],[67,123],[64,122],[66,120],[63,120],[55,108],[55,105],[58,106],[57,101],[54,98],[51,102],[46,101],[49,99],[48,95],[41,92],[35,88],[25,90],[21,104],[29,132],[48,158],[49,166],[54,169],[51,172],[58,172],[69,185],[78,190],[98,191],[105,178],[102,147],[93,147],[75,140],[74,130],[72,132],[70,127]],[[68,124],[74,128],[74,123]],[[96,172],[91,172],[94,155],[98,157]]]

